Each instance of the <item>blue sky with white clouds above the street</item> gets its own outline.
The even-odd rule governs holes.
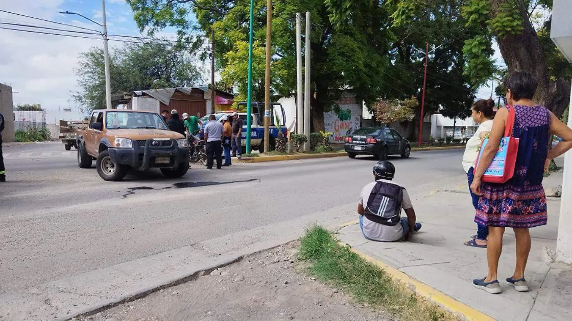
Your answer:
[[[77,15],[59,12],[73,11],[97,22],[102,18],[100,0],[0,0],[0,10],[95,30],[100,30],[100,26]],[[125,0],[106,0],[106,17],[108,34],[140,35],[133,21],[133,13]],[[0,27],[15,27],[6,23],[73,29],[69,26],[54,25],[0,12]],[[17,28],[22,29],[22,27]],[[174,30],[167,29],[162,35],[169,36],[173,32]],[[89,37],[97,36],[89,35]],[[109,45],[121,46],[122,43],[110,41]],[[101,47],[102,40],[0,29],[0,83],[12,86],[14,105],[39,103],[47,110],[77,107],[70,96],[72,91],[78,90],[74,69],[79,61],[78,55],[94,46]],[[495,58],[500,59],[502,63],[498,50]],[[205,69],[208,70],[208,67]],[[490,87],[482,87],[477,93],[478,98],[488,98],[489,95]]]

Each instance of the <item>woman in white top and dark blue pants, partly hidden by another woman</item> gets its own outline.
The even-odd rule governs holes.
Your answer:
[[[463,169],[467,173],[469,192],[471,193],[472,205],[477,207],[479,203],[479,196],[476,196],[471,191],[471,183],[474,178],[474,166],[476,158],[479,155],[480,145],[487,138],[488,134],[492,129],[492,108],[495,106],[495,102],[492,99],[480,99],[472,105],[472,119],[480,124],[476,133],[468,140],[467,146],[463,154]],[[487,247],[487,236],[488,227],[484,225],[477,224],[478,228],[476,235],[471,236],[471,239],[464,242],[466,246],[474,247]]]

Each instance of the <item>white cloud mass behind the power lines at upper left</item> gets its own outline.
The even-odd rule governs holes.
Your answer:
[[[64,0],[1,2],[3,10],[51,21],[62,21],[59,11],[70,9],[69,3],[64,4]],[[6,19],[10,19],[10,22],[15,20],[26,24],[72,29],[0,13],[0,20],[6,21]],[[74,21],[72,23],[89,29],[100,29],[90,22]],[[58,33],[58,31],[53,32]],[[97,38],[97,35],[93,37]],[[113,45],[111,42],[110,46]],[[0,29],[0,57],[2,57],[0,59],[0,83],[11,85],[13,90],[18,92],[14,94],[14,104],[39,103],[46,109],[68,106],[70,91],[77,90],[74,68],[78,63],[78,55],[93,46],[101,47],[102,41]]]

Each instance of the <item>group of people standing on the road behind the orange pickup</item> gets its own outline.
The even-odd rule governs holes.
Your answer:
[[[186,133],[190,136],[197,136],[202,128],[202,122],[198,116],[189,116],[182,114],[182,120],[179,118],[177,110],[170,112],[163,110],[161,116],[167,123],[169,130],[176,131],[182,135]],[[209,122],[204,127],[204,139],[206,141],[206,168],[212,170],[216,159],[216,168],[221,169],[223,166],[231,166],[231,149],[232,157],[242,157],[242,130],[243,120],[239,118],[238,113],[224,115],[222,122],[218,122],[215,115],[209,116]],[[187,137],[189,137],[187,136]],[[224,164],[223,164],[224,153]]]

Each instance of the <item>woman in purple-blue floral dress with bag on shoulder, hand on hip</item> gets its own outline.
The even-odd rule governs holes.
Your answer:
[[[473,280],[473,285],[490,293],[501,293],[497,280],[498,262],[502,251],[505,227],[512,227],[517,244],[517,264],[514,274],[506,283],[517,291],[528,291],[525,267],[530,252],[529,228],[542,226],[547,221],[546,195],[542,187],[543,172],[551,159],[572,148],[572,129],[564,125],[545,107],[531,99],[537,89],[537,80],[526,71],[509,75],[506,108],[499,109],[492,125],[487,146],[475,170],[471,190],[478,196],[475,222],[489,228],[487,243],[488,274]],[[514,109],[515,120],[511,135],[519,138],[518,154],[513,178],[504,184],[484,183],[481,178],[490,165],[505,133],[509,110]],[[548,150],[550,134],[562,142]]]

